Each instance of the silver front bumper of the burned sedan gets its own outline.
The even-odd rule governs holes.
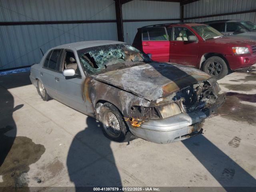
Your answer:
[[[168,144],[190,138],[202,133],[199,124],[214,113],[216,108],[223,104],[224,100],[225,96],[220,95],[211,108],[180,113],[164,119],[147,120],[142,122],[140,127],[130,125],[130,132],[135,136],[158,144]]]

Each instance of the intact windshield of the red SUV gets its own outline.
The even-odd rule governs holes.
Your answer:
[[[221,32],[208,25],[192,26],[192,28],[205,40],[223,36]]]

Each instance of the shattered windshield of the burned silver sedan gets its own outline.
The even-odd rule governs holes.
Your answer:
[[[150,58],[127,44],[112,44],[78,50],[80,62],[90,75],[125,68]],[[129,62],[129,65],[124,64]]]

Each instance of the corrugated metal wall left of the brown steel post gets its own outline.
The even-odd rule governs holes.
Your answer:
[[[113,0],[0,0],[0,22],[115,20]],[[0,69],[31,65],[51,47],[117,40],[116,23],[0,26]]]

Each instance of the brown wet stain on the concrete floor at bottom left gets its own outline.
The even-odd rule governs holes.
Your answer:
[[[6,144],[12,139],[13,138],[9,136],[1,136],[1,142]],[[5,145],[1,145],[1,148],[4,146]],[[30,138],[17,136],[0,167],[0,175],[3,180],[3,182],[0,182],[0,187],[28,186],[29,166],[37,162],[44,152],[45,148],[43,145],[35,144]],[[24,190],[26,190],[26,188]]]

